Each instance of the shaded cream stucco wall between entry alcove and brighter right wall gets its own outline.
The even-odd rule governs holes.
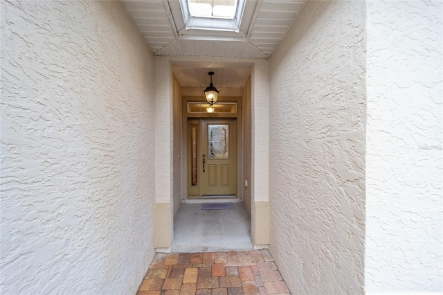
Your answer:
[[[270,60],[270,251],[292,294],[363,294],[365,3],[308,1]]]

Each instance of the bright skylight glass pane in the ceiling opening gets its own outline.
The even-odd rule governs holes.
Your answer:
[[[187,0],[193,17],[233,19],[237,0]]]

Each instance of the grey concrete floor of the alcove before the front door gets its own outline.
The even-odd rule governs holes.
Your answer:
[[[201,210],[201,204],[181,204],[174,218],[173,252],[252,250],[251,217],[243,203],[235,209]]]

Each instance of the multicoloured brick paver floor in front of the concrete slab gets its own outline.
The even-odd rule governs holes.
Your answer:
[[[137,295],[289,294],[268,250],[156,253]]]

